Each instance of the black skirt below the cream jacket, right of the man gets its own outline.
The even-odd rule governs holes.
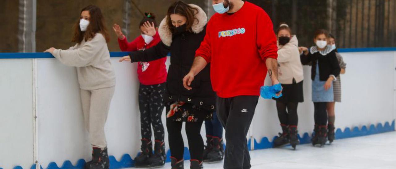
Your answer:
[[[293,84],[281,84],[283,87],[282,97],[275,99],[276,101],[280,101],[282,103],[301,103],[304,102],[304,92],[303,92],[303,81],[299,83],[295,83],[293,80]]]

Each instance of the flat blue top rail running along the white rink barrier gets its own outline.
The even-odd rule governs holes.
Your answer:
[[[379,52],[379,51],[396,51],[396,47],[342,48],[337,50],[340,53]],[[110,57],[122,57],[128,54],[129,52],[110,52]],[[49,53],[0,53],[0,59],[27,59],[27,58],[53,58],[53,56],[52,54]]]

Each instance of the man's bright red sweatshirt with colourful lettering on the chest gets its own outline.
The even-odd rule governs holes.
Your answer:
[[[245,2],[233,14],[216,13],[196,56],[211,62],[213,90],[221,98],[259,96],[267,58],[278,58],[272,21],[260,7]]]

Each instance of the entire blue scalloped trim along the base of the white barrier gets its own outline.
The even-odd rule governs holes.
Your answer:
[[[344,131],[341,129],[337,129],[335,132],[335,137],[337,139],[345,139],[345,138],[351,138],[351,137],[360,137],[360,136],[365,136],[365,135],[372,135],[372,134],[378,134],[378,133],[385,133],[388,131],[395,131],[395,120],[392,121],[392,124],[389,124],[389,122],[386,122],[385,125],[382,125],[381,123],[377,124],[377,127],[375,127],[373,124],[370,125],[369,128],[367,126],[363,126],[362,129],[359,130],[358,127],[354,127],[352,130],[350,128],[345,128]],[[275,139],[277,136],[275,136],[273,139]],[[311,143],[311,137],[308,133],[304,133],[303,137],[298,135],[298,138],[300,140],[300,144],[307,144]],[[273,140],[272,139],[272,140]],[[273,143],[268,140],[267,137],[264,137],[261,139],[260,143],[257,143],[256,139],[254,139],[254,148],[255,150],[258,149],[265,149],[265,148],[272,148]],[[251,150],[251,139],[247,142],[247,147]],[[139,155],[139,154],[138,154]],[[190,160],[190,152],[187,147],[184,148],[184,159],[185,160]],[[124,154],[121,158],[120,161],[117,161],[114,156],[109,156],[110,160],[110,168],[111,169],[118,169],[118,168],[128,168],[128,167],[134,167],[135,166],[135,161],[129,156],[129,154]],[[170,162],[170,151],[166,153],[166,162]],[[85,164],[85,160],[78,160],[76,165],[73,165],[70,161],[65,161],[62,165],[62,167],[58,167],[56,163],[51,162],[48,164],[46,169],[83,169]],[[30,169],[35,169],[36,164],[32,165]],[[40,167],[43,169],[42,167]],[[2,168],[0,168],[2,169]],[[21,166],[16,166],[13,169],[23,169]]]

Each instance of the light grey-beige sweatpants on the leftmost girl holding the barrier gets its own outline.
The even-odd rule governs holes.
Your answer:
[[[96,90],[80,89],[82,111],[84,113],[85,128],[89,133],[92,146],[105,148],[105,123],[115,87],[100,88]]]

